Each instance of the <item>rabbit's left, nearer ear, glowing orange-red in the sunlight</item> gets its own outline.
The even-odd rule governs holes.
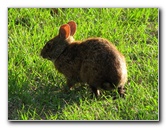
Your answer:
[[[65,39],[67,39],[70,36],[70,26],[68,24],[64,24],[60,27],[59,36]]]

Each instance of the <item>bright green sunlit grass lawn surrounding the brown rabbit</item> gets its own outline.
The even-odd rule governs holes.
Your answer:
[[[157,8],[8,9],[9,120],[159,120]],[[126,57],[126,98],[91,98],[88,86],[65,92],[66,80],[40,50],[74,20],[76,40],[103,37]]]

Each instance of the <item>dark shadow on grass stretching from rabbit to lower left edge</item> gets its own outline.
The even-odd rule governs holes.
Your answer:
[[[79,105],[80,99],[83,101],[90,95],[86,86],[78,86],[71,91],[66,91],[65,84],[57,86],[53,80],[38,81],[36,85],[33,85],[33,82],[22,82],[22,86],[18,86],[16,81],[17,78],[15,82],[9,80],[9,120],[63,120],[65,107],[73,103]],[[89,94],[85,95],[85,93]]]

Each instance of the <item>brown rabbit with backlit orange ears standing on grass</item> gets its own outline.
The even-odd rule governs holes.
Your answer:
[[[103,38],[74,41],[76,27],[74,21],[62,25],[59,34],[46,43],[41,56],[54,63],[66,77],[69,88],[76,83],[87,83],[96,97],[100,88],[118,88],[123,96],[127,81],[124,56]]]

